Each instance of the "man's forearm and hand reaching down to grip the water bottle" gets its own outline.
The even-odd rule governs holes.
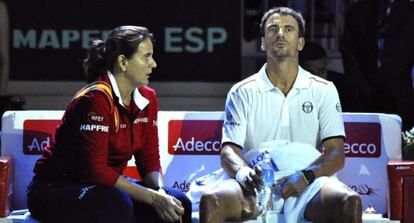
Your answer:
[[[220,159],[224,171],[248,191],[254,192],[263,186],[262,171],[250,168],[240,155],[240,146],[233,143],[224,143]]]

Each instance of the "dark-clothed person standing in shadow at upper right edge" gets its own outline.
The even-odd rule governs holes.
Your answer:
[[[345,74],[363,84],[369,112],[401,116],[414,126],[414,2],[361,0],[345,15],[342,59]]]

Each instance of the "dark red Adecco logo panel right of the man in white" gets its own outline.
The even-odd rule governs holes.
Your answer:
[[[345,123],[346,157],[375,158],[381,156],[381,125],[379,123]]]

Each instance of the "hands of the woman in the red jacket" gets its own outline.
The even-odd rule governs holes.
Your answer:
[[[165,193],[164,190],[154,191],[151,206],[164,221],[181,222],[184,208],[179,200]]]

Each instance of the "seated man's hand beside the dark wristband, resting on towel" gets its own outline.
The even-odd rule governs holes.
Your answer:
[[[283,177],[276,183],[282,185],[280,192],[284,199],[290,196],[298,197],[305,190],[306,186],[308,186],[308,182],[300,171]]]

